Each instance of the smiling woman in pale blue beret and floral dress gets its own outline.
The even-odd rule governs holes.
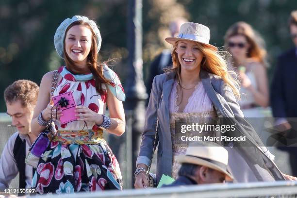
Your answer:
[[[101,36],[96,23],[85,16],[65,19],[54,35],[58,55],[65,60],[57,73],[45,74],[31,124],[38,135],[57,115],[53,140],[39,158],[32,187],[38,194],[122,189],[119,165],[106,144],[103,130],[125,131],[124,90],[115,72],[98,62]],[[61,123],[61,110],[52,108],[52,96],[71,92],[77,120]],[[105,115],[106,107],[109,115]],[[66,113],[65,113],[66,114]]]

